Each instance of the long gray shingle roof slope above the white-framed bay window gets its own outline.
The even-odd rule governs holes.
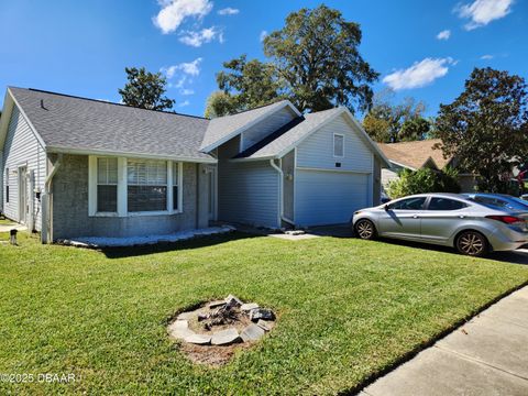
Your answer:
[[[209,124],[207,119],[33,89],[9,89],[52,151],[213,160],[199,151]]]

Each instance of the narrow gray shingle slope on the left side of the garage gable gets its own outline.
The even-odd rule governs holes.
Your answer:
[[[257,150],[253,154],[245,156],[245,158],[261,160],[275,157],[279,154],[285,154],[283,153],[283,151],[297,144],[297,142],[302,140],[302,138],[314,132],[314,130],[324,123],[324,121],[341,111],[342,108],[334,108],[305,114],[305,120],[302,122],[289,129],[286,133],[280,134],[273,142],[270,142],[264,147]]]

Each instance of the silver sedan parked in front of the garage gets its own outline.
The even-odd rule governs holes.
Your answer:
[[[487,207],[458,194],[421,194],[358,210],[352,229],[364,240],[394,238],[483,256],[526,244],[527,220],[526,212]]]

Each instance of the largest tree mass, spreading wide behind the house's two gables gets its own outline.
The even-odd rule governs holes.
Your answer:
[[[270,62],[241,56],[224,63],[230,70],[219,73],[217,81],[238,109],[288,98],[302,112],[337,106],[365,111],[378,74],[360,55],[361,38],[360,25],[338,10],[304,8],[264,40]]]

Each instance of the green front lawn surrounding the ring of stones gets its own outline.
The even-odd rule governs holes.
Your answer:
[[[0,373],[80,380],[0,382],[0,394],[350,392],[526,282],[522,265],[355,239],[232,234],[103,253],[22,233],[0,244]],[[167,321],[230,293],[273,308],[276,328],[220,369],[193,365]]]

